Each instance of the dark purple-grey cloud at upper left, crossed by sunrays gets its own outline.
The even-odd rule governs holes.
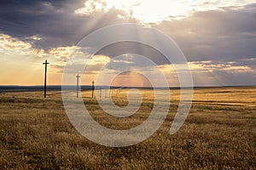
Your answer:
[[[124,13],[114,8],[107,14],[74,14],[83,4],[80,0],[3,1],[0,32],[20,40],[37,35],[42,39],[33,45],[48,49],[73,45],[91,31],[122,21],[117,15]]]

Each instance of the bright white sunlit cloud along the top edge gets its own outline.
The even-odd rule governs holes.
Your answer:
[[[110,8],[125,11],[131,18],[141,22],[152,23],[166,19],[183,19],[195,11],[216,10],[224,7],[240,8],[253,0],[89,0],[84,6],[75,10],[76,14],[94,14],[106,12]],[[153,12],[154,11],[154,12]],[[122,16],[121,14],[119,16]]]

